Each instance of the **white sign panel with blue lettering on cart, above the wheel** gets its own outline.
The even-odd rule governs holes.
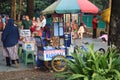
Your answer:
[[[65,56],[65,50],[45,50],[38,51],[38,58],[44,61],[50,61],[53,57],[57,55]]]

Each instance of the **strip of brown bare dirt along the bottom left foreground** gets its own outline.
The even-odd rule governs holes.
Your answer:
[[[0,80],[55,80],[54,73],[40,69],[0,72]]]

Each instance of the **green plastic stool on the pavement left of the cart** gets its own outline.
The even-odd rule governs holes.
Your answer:
[[[34,60],[34,51],[26,51],[24,50],[24,53],[23,53],[23,61],[25,63],[25,65],[27,65],[28,63],[35,63],[35,60]]]

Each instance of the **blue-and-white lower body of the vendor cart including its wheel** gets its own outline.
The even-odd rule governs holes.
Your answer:
[[[65,48],[55,48],[52,46],[43,46],[42,39],[39,36],[35,37],[36,44],[37,44],[37,55],[36,55],[36,64],[37,67],[45,66],[48,69],[53,69],[56,72],[61,72],[65,70],[66,65],[62,65],[63,61],[61,58],[57,60],[54,59],[56,56],[60,56],[65,58]]]

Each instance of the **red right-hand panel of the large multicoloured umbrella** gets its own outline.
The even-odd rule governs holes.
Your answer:
[[[89,0],[77,0],[81,12],[83,13],[98,13],[99,8]]]

